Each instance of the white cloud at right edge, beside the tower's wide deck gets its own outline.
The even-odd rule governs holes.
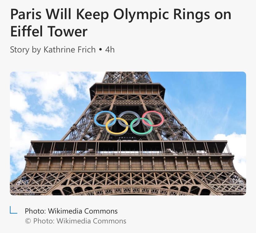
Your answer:
[[[233,164],[237,172],[246,177],[246,134],[217,134],[213,140],[227,140],[230,152],[235,156]]]

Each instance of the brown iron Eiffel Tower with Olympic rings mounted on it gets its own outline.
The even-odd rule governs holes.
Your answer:
[[[13,195],[243,195],[227,141],[196,138],[147,72],[106,72],[59,141],[31,141]]]

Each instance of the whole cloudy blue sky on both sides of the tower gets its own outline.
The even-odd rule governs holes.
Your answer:
[[[11,180],[24,168],[30,140],[59,140],[87,107],[105,72],[18,72],[10,76]],[[246,78],[242,72],[149,72],[165,102],[198,140],[228,139],[245,176]],[[230,148],[230,149],[231,149]]]

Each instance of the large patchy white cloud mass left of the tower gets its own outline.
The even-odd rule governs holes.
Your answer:
[[[37,127],[64,127],[68,109],[63,97],[89,99],[89,88],[104,72],[15,72],[10,77],[11,174],[21,173],[31,140],[40,140]],[[36,101],[35,101],[36,100]],[[32,107],[41,108],[35,113]],[[14,112],[20,116],[15,121]],[[32,130],[33,129],[33,130]]]

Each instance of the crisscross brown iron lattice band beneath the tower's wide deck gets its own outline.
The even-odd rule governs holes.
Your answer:
[[[86,192],[101,189],[108,194],[109,188],[145,187],[167,189],[191,195],[240,194],[245,192],[245,180],[236,172],[37,172],[25,173],[11,182],[12,194],[33,195],[95,195]],[[158,190],[159,191],[159,190]],[[165,190],[166,191],[166,190]],[[84,193],[85,192],[85,193]],[[113,190],[111,191],[113,193]],[[124,191],[122,191],[125,193]],[[99,194],[97,194],[99,195]],[[105,195],[105,194],[100,194]],[[170,194],[168,194],[170,195]]]

